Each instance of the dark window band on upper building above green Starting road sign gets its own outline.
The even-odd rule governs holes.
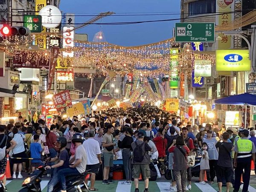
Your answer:
[[[189,16],[216,12],[216,0],[199,0],[189,3]]]

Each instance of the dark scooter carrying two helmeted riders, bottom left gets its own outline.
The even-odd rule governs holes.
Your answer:
[[[39,170],[35,171],[32,175],[27,177],[23,183],[22,186],[23,189],[20,189],[19,192],[41,192],[41,178],[43,173],[46,171],[45,166],[39,166]],[[84,182],[84,177],[90,173],[90,170],[87,172],[84,172],[79,175],[70,176],[66,178],[66,186],[67,186],[67,192],[82,192],[82,189],[88,189],[88,186]],[[58,192],[61,190],[61,183],[57,183],[54,186],[53,191]]]

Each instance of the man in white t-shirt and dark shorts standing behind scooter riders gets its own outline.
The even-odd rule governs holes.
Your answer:
[[[99,166],[102,164],[101,160],[101,150],[99,147],[99,142],[94,139],[95,131],[89,131],[89,139],[85,140],[83,143],[84,149],[87,153],[87,166],[86,170],[90,170],[90,191],[98,191],[94,188],[95,176],[99,173]],[[85,183],[87,184],[88,178],[85,178]]]

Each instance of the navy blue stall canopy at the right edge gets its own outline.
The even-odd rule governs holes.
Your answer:
[[[243,93],[240,95],[233,95],[223,99],[215,100],[215,104],[226,105],[256,105],[256,95]]]

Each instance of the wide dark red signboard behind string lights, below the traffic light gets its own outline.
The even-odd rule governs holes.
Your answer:
[[[49,69],[49,55],[41,51],[17,51],[13,54],[13,67]]]

